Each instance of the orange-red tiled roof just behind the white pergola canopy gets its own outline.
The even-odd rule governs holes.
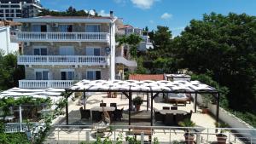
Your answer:
[[[164,74],[130,74],[131,80],[165,80]]]

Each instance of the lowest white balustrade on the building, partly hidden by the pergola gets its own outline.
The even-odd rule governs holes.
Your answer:
[[[73,80],[19,80],[19,88],[69,88]]]

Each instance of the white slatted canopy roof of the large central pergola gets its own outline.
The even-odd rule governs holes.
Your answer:
[[[152,80],[82,80],[67,91],[87,92],[167,92],[167,93],[217,93],[218,91],[199,81],[152,81]]]

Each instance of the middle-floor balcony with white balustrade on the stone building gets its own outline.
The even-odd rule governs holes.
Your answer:
[[[108,65],[107,56],[86,55],[19,55],[18,65]]]

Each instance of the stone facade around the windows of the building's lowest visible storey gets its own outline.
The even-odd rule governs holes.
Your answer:
[[[37,69],[47,69],[49,70],[49,79],[51,80],[61,80],[61,70],[63,69],[72,69],[74,70],[74,80],[86,79],[86,72],[89,70],[98,70],[101,71],[102,79],[109,79],[109,67],[106,66],[102,68],[100,66],[26,66],[26,80],[35,80],[36,75],[35,71]]]

